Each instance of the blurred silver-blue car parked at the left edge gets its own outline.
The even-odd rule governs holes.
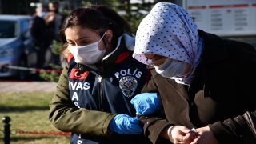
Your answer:
[[[32,16],[0,15],[0,78],[24,80],[28,71],[26,46]]]

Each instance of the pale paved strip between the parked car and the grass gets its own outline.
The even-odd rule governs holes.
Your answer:
[[[1,92],[32,92],[42,91],[50,92],[56,89],[56,82],[8,82],[0,81]]]

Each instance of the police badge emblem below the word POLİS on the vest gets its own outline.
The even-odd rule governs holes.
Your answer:
[[[122,94],[124,94],[128,98],[133,96],[137,86],[138,86],[138,82],[134,77],[126,76],[126,77],[122,77],[119,80],[119,87],[122,90]]]

